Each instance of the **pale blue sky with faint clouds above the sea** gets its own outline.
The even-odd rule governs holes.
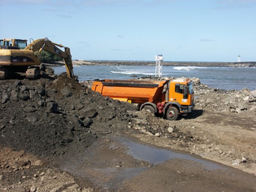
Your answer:
[[[256,0],[0,0],[0,38],[79,60],[256,61]]]

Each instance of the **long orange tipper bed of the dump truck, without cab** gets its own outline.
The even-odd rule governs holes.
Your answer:
[[[136,81],[104,79],[94,81],[92,90],[120,101],[133,103],[157,102],[163,96],[167,81]]]

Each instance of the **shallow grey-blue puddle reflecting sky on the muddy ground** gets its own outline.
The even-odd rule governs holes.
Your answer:
[[[204,168],[208,170],[226,169],[224,166],[220,166],[207,160],[201,160],[188,154],[180,154],[167,149],[154,148],[126,139],[121,139],[120,142],[128,147],[127,154],[132,155],[137,160],[144,160],[151,164],[163,163],[170,159],[185,159],[201,163]]]

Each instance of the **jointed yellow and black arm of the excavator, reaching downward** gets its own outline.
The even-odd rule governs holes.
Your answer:
[[[35,41],[32,41],[32,43],[30,43],[25,48],[25,50],[33,51],[36,54],[36,56],[38,56],[42,50],[46,50],[48,52],[51,52],[52,54],[55,54],[60,56],[61,58],[64,58],[64,63],[67,70],[67,76],[72,78],[74,76],[74,72],[73,72],[73,64],[72,64],[72,57],[70,54],[70,48],[64,47],[64,51],[62,51],[59,47],[63,48],[64,46],[61,44],[53,43],[52,41],[49,41],[48,38],[42,38],[42,39],[37,39]]]

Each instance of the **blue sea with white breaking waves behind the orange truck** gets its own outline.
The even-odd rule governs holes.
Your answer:
[[[65,67],[52,67],[56,74]],[[94,79],[131,79],[154,76],[154,66],[139,65],[76,65],[74,74],[79,81]],[[137,77],[134,77],[137,76]],[[163,66],[164,77],[197,77],[201,83],[225,90],[256,90],[256,67],[194,67]]]

